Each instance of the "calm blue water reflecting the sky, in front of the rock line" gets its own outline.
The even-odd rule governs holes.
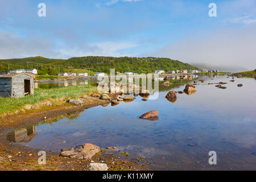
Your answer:
[[[131,156],[144,156],[151,169],[255,170],[256,80],[235,78],[230,82],[232,78],[226,76],[203,79],[195,94],[177,94],[174,103],[165,98],[166,94],[183,90],[184,85],[161,86],[157,100],[143,102],[137,97],[117,106],[84,110],[72,119],[39,124],[28,146],[52,151],[82,143],[117,146]],[[207,85],[220,81],[228,82],[224,85],[227,89]],[[243,86],[238,88],[238,83]],[[158,121],[139,118],[150,110],[159,111]],[[217,152],[217,165],[209,165],[209,151]]]

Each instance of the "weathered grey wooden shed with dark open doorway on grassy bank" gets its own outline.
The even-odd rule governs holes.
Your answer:
[[[34,94],[34,76],[27,73],[0,75],[0,97],[23,97]]]

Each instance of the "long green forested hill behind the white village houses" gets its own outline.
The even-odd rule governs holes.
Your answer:
[[[55,75],[59,69],[61,72],[67,71],[89,71],[109,73],[110,68],[115,71],[135,72],[135,73],[152,73],[156,70],[180,70],[180,69],[197,69],[187,63],[159,57],[105,57],[105,56],[85,56],[72,57],[64,59],[48,59],[45,57],[26,57],[23,59],[0,60],[0,72],[7,71],[7,65],[10,69],[15,68],[36,68],[40,75],[44,73]],[[56,65],[56,66],[55,66]]]

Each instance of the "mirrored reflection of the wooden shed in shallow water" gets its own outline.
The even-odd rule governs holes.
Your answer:
[[[10,142],[30,142],[35,136],[36,133],[36,127],[35,126],[28,126],[24,127],[22,129],[16,129],[11,131],[7,134],[6,139]]]

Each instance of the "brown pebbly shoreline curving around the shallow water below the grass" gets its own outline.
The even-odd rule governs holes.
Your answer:
[[[101,151],[93,156],[90,160],[72,159],[59,156],[59,153],[47,151],[47,164],[38,164],[38,148],[29,148],[21,144],[11,144],[5,139],[5,136],[10,131],[34,125],[40,122],[49,122],[60,117],[67,117],[68,114],[79,114],[85,109],[95,106],[109,104],[110,101],[100,100],[97,97],[86,96],[84,104],[81,106],[59,106],[52,109],[48,106],[47,110],[35,111],[30,114],[11,115],[10,117],[0,119],[0,171],[1,170],[82,170],[86,171],[89,168],[90,160],[101,163],[102,160],[108,164],[109,170],[146,170],[146,165],[138,164],[138,158],[122,159],[125,156],[113,155],[112,150],[106,146],[107,149]],[[46,117],[46,119],[45,119]],[[4,121],[3,121],[4,120]],[[113,163],[113,160],[115,163]],[[139,159],[143,160],[143,159]],[[29,165],[28,165],[29,164]],[[67,165],[68,164],[68,165]],[[120,167],[122,166],[122,168]],[[132,168],[131,168],[132,166]]]

